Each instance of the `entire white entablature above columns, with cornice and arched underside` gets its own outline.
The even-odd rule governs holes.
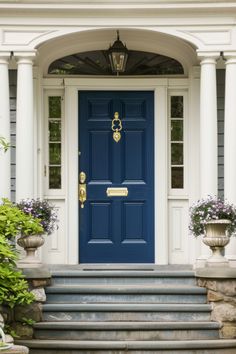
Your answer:
[[[0,1],[0,51],[117,28],[170,35],[200,51],[229,51],[236,45],[234,13],[236,3],[228,1]]]

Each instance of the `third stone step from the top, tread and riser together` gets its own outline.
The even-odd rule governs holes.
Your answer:
[[[43,321],[210,321],[207,304],[45,304]]]

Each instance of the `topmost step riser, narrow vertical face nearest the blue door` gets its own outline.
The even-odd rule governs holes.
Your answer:
[[[101,284],[120,284],[135,285],[139,284],[159,284],[159,285],[196,285],[195,278],[156,278],[156,277],[54,277],[53,285],[101,285]]]

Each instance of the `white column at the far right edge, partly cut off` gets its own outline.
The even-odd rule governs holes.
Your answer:
[[[224,197],[236,204],[236,52],[224,53],[225,78],[225,126],[224,126]],[[236,266],[236,239],[231,237],[226,256]]]

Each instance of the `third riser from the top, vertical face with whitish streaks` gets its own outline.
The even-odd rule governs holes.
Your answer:
[[[209,312],[53,312],[43,313],[43,321],[210,321]]]

